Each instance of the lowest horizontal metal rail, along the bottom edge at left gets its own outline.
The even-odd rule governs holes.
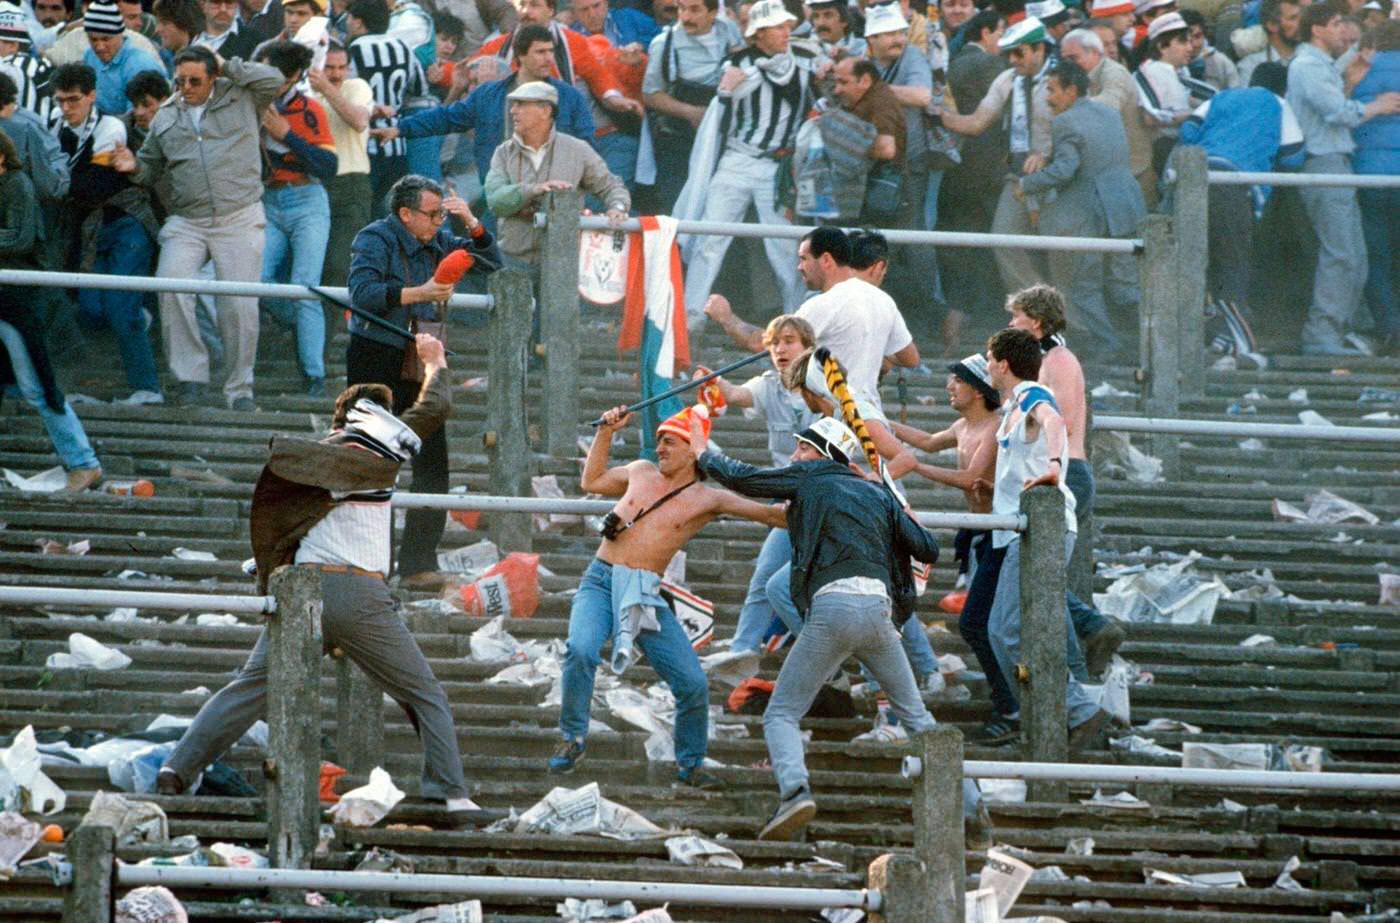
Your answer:
[[[776,888],[757,885],[699,885],[669,881],[598,881],[496,875],[437,875],[386,871],[330,871],[301,868],[190,868],[174,866],[116,867],[123,888],[287,888],[297,891],[382,891],[386,894],[454,894],[466,898],[598,898],[731,908],[790,908],[823,910],[858,908],[875,912],[881,892],[839,888]]]

